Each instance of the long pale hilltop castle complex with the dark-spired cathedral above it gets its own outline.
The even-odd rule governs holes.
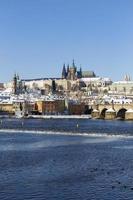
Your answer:
[[[77,67],[74,60],[71,65],[63,65],[60,78],[37,78],[37,79],[19,79],[15,74],[13,81],[5,84],[6,88],[12,88],[14,94],[23,93],[28,89],[39,89],[43,94],[52,91],[58,91],[61,94],[69,91],[79,91],[82,87],[95,88],[106,86],[111,83],[110,79],[97,77],[93,71],[82,71]],[[54,86],[54,88],[53,88]],[[93,89],[93,88],[92,88]]]

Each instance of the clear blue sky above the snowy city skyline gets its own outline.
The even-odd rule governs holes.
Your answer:
[[[133,78],[133,0],[0,0],[0,82],[83,70]]]

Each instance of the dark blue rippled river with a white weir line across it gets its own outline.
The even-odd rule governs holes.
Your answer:
[[[5,119],[0,128],[0,200],[133,199],[133,122]]]

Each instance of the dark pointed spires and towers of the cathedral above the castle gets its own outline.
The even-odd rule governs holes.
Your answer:
[[[80,70],[77,70],[77,67],[74,63],[72,63],[72,66],[65,66],[65,64],[63,65],[63,69],[62,69],[62,79],[67,79],[67,80],[76,80],[78,78],[82,78],[82,69],[80,67]]]

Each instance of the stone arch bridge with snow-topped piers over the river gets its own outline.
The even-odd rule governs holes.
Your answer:
[[[133,103],[93,105],[92,117],[101,119],[133,119]]]

